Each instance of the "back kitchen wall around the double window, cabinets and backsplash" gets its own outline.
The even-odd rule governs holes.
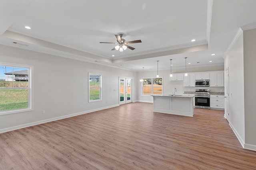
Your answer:
[[[204,72],[204,71],[220,71],[224,70],[224,66],[208,66],[208,67],[195,67],[187,68],[188,72]],[[172,73],[182,73],[184,69],[173,69]],[[183,81],[170,81],[170,70],[158,70],[160,77],[163,77],[163,94],[168,95],[172,94],[174,88],[177,92],[175,94],[182,95],[184,91],[195,92],[196,89],[210,89],[212,92],[224,92],[224,87],[184,87]],[[137,99],[141,102],[153,102],[152,96],[142,96],[142,84],[140,79],[143,76],[143,72],[138,72],[138,94]],[[144,71],[144,77],[156,77],[156,71]]]

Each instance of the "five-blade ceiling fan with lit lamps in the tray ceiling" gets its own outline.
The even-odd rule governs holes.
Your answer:
[[[123,34],[115,35],[117,43],[109,43],[109,42],[100,42],[100,43],[108,43],[108,44],[117,44],[116,47],[114,47],[111,50],[118,50],[120,52],[128,49],[134,50],[135,48],[131,47],[128,44],[134,44],[134,43],[141,43],[141,40],[135,40],[135,41],[127,41],[125,42],[125,39],[122,39]]]

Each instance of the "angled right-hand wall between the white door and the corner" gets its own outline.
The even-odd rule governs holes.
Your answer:
[[[244,51],[243,34],[240,31],[232,48],[225,56],[225,70],[229,68],[230,125],[244,146]]]

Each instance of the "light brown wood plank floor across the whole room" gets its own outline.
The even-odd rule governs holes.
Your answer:
[[[0,134],[0,170],[255,170],[224,111],[132,103]]]

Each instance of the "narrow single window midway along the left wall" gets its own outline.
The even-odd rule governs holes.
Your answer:
[[[89,102],[102,100],[102,83],[100,74],[89,73]]]

